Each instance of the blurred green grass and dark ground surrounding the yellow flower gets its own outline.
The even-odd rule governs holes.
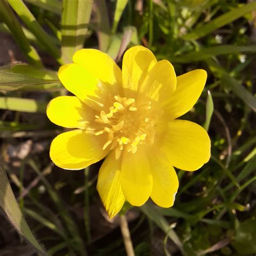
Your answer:
[[[136,255],[255,255],[255,25],[254,1],[0,1],[1,156],[49,255],[125,255],[118,219],[107,218],[96,191],[100,163],[76,172],[54,166],[49,146],[63,130],[45,109],[66,93],[56,71],[76,50],[100,49],[121,65],[137,44],[170,60],[177,75],[207,71],[182,118],[208,130],[212,157],[199,171],[177,170],[172,208],[149,201],[129,210]],[[0,255],[35,255],[2,216]]]

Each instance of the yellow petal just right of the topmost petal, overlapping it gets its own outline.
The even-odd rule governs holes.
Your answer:
[[[139,91],[161,104],[170,104],[170,96],[176,89],[176,74],[168,60],[157,62],[147,74]]]

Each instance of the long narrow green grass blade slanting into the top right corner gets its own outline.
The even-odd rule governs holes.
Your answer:
[[[212,19],[207,24],[194,29],[192,32],[187,33],[181,38],[185,40],[196,40],[200,37],[207,35],[208,33],[211,33],[212,31],[218,28],[221,28],[221,26],[225,26],[235,21],[235,19],[238,19],[244,16],[245,14],[247,14],[248,12],[253,11],[255,9],[256,9],[256,2],[245,4],[240,8],[235,8],[229,12],[226,12],[226,14],[223,14],[218,18]]]

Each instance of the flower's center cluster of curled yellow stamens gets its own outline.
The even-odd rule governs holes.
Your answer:
[[[102,110],[95,116],[95,121],[103,124],[103,129],[95,132],[95,135],[108,134],[103,150],[110,146],[111,150],[115,149],[118,159],[124,149],[135,153],[139,144],[153,144],[157,113],[152,111],[151,102],[139,105],[133,98],[118,95],[111,100],[113,105],[109,112]]]

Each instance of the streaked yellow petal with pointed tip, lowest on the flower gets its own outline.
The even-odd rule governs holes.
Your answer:
[[[97,190],[110,219],[122,209],[125,202],[120,183],[121,160],[116,160],[112,151],[99,169]]]

